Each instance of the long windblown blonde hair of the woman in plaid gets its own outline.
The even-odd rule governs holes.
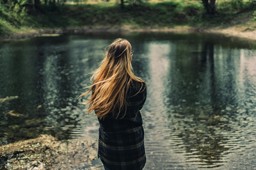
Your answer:
[[[88,86],[91,87],[90,90],[82,93],[79,96],[81,97],[86,95],[91,90],[94,90],[93,88],[95,88],[95,91],[92,94],[90,100],[82,103],[90,103],[90,106],[84,111],[88,110],[87,113],[89,114],[95,110],[95,113],[97,111],[97,114],[94,116],[98,116],[100,119],[103,118],[104,120],[105,116],[109,112],[114,112],[116,106],[119,107],[118,115],[123,106],[125,106],[126,110],[127,101],[125,96],[128,92],[132,79],[141,83],[145,82],[142,78],[134,75],[130,62],[130,54],[131,45],[126,39],[118,38],[108,46],[108,50],[106,51],[106,54],[101,61],[99,68],[92,72],[93,76],[91,77],[91,82],[92,79],[94,79],[94,81],[91,86]],[[143,83],[141,89],[142,87]]]

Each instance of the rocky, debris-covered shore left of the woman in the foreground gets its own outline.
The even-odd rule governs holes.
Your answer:
[[[62,140],[51,135],[0,146],[1,170],[100,170],[98,142],[90,137]]]

